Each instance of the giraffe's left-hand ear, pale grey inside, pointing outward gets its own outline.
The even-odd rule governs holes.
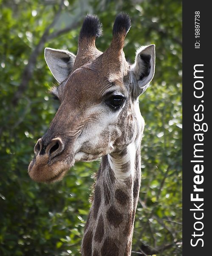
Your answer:
[[[52,75],[59,83],[71,73],[76,58],[72,52],[52,48],[45,48],[44,57]]]

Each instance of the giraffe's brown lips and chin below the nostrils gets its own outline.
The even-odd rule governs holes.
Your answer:
[[[33,159],[28,167],[28,174],[38,183],[54,183],[62,180],[66,172],[73,166],[66,162],[57,162],[51,165]]]

